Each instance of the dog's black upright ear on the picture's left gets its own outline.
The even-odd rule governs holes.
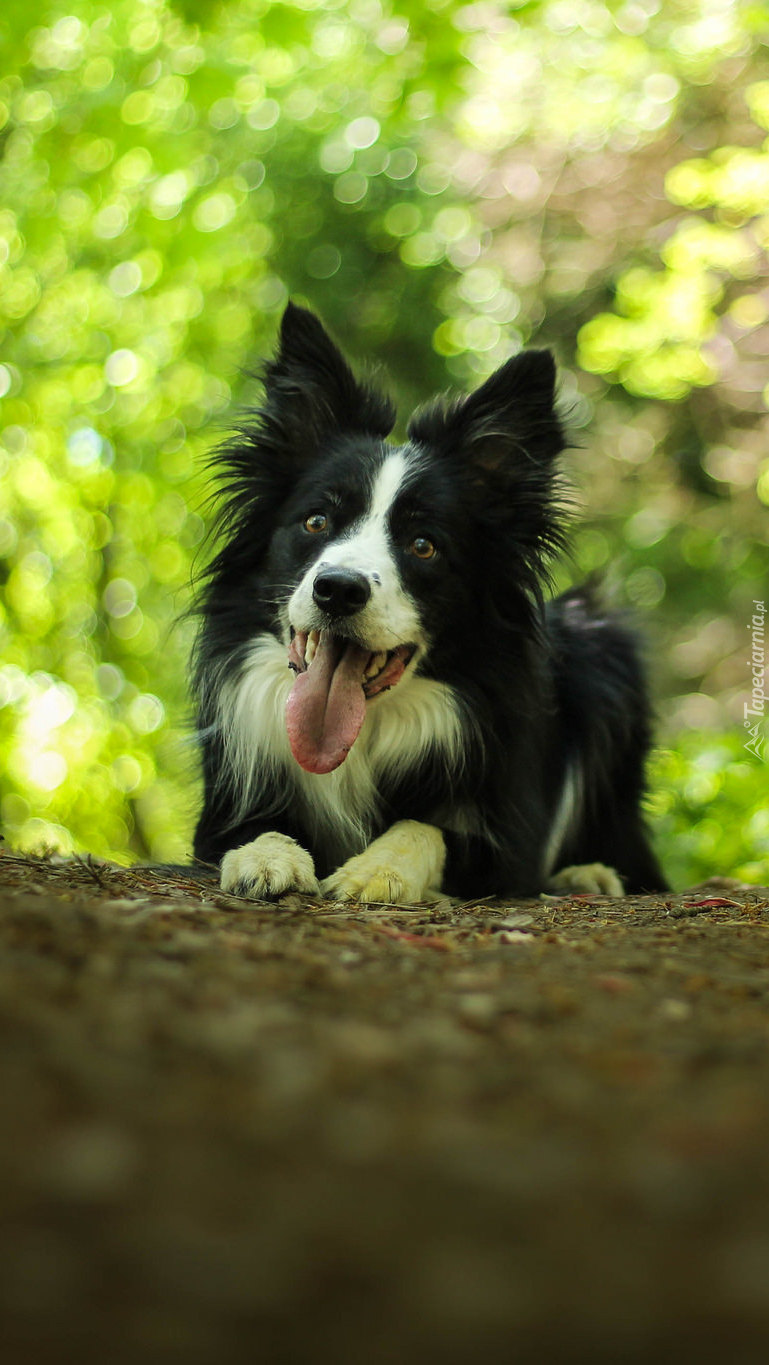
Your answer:
[[[318,318],[295,303],[283,314],[264,381],[270,437],[283,437],[305,459],[335,431],[385,437],[395,425],[389,399],[355,378]]]

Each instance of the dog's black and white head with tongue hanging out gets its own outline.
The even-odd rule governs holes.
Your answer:
[[[296,673],[287,723],[309,771],[337,767],[374,699],[441,648],[488,651],[484,629],[531,605],[559,542],[553,389],[549,352],[523,352],[392,445],[391,403],[313,314],[285,310],[258,422],[225,456],[229,519]]]

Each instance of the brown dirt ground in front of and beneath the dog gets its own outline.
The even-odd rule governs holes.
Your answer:
[[[769,1361],[769,889],[404,910],[0,856],[1,1331]]]

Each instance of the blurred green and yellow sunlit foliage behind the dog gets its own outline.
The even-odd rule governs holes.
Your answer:
[[[559,581],[602,571],[642,620],[662,861],[677,886],[766,879],[744,707],[769,7],[5,0],[0,31],[8,844],[187,856],[205,457],[291,296],[385,366],[404,416],[556,352],[579,504]]]

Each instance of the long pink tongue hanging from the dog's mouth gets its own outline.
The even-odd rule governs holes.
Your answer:
[[[366,718],[363,669],[370,651],[322,631],[316,657],[299,673],[285,703],[285,729],[307,773],[332,773],[344,762]]]

